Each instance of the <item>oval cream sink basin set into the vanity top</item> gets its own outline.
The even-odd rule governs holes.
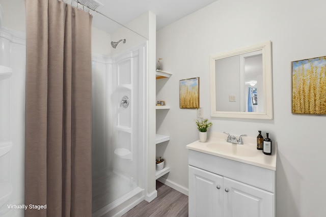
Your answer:
[[[255,157],[258,155],[259,151],[250,144],[232,144],[226,141],[208,143],[207,148],[214,152],[218,152],[226,155],[234,155],[239,157]]]

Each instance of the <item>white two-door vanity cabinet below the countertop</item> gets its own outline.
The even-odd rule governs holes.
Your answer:
[[[275,170],[189,150],[189,217],[275,217]]]

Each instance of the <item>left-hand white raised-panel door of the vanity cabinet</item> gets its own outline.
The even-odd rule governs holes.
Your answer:
[[[189,217],[223,216],[223,177],[189,166]]]

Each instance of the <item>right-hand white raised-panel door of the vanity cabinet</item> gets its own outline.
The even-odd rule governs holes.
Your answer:
[[[274,194],[224,177],[224,217],[274,217]]]

